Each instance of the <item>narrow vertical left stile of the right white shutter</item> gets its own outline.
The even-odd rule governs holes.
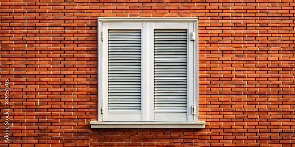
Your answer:
[[[154,121],[154,24],[148,24],[148,120]]]

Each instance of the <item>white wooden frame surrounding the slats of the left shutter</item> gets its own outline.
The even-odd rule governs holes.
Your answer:
[[[148,39],[148,28],[143,28],[142,26],[144,26],[144,24],[142,23],[104,23],[103,24],[103,32],[105,32],[105,34],[103,34],[104,36],[108,36],[109,33],[109,29],[141,29],[142,30],[142,38],[141,40],[147,40]],[[102,45],[103,46],[108,46],[108,41],[106,39],[106,41],[102,41]],[[148,42],[142,41],[142,45],[141,45],[141,54],[142,54],[142,61],[147,61],[148,57],[147,56],[143,56],[143,55],[147,55],[148,54]],[[103,51],[102,52],[102,63],[108,63],[108,52],[107,51]],[[100,62],[101,63],[101,62]],[[142,68],[141,68],[141,73],[142,73],[142,77],[147,77],[148,76],[148,65],[143,65],[142,64]],[[108,111],[108,66],[102,66],[102,64],[100,64],[100,66],[103,68],[102,69],[102,105],[103,105],[103,111],[107,112]],[[147,110],[147,105],[143,105],[143,103],[148,103],[148,80],[146,78],[142,78],[142,84],[141,84],[141,89],[142,89],[142,99],[141,99],[141,106],[142,106],[142,110],[141,113],[132,113],[132,117],[128,117],[130,116],[130,113],[122,113],[121,112],[108,112],[108,113],[102,113],[102,121],[104,120],[108,120],[108,121],[112,121],[112,120],[118,120],[118,121],[126,121],[124,119],[127,119],[129,121],[139,121],[139,120],[147,120],[148,119],[148,111]],[[100,110],[101,111],[101,110]]]

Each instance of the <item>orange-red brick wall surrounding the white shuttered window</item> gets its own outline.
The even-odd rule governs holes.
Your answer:
[[[9,147],[295,147],[294,0],[0,0]],[[90,129],[97,17],[199,17],[204,129]],[[13,126],[12,126],[13,123]]]

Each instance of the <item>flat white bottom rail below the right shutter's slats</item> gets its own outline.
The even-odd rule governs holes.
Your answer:
[[[186,121],[186,113],[154,113],[155,121]]]

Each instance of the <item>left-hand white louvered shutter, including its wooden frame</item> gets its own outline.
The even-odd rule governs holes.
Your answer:
[[[108,121],[142,121],[142,27],[126,29],[126,24],[108,24],[107,56]],[[103,81],[103,83],[104,83]]]

